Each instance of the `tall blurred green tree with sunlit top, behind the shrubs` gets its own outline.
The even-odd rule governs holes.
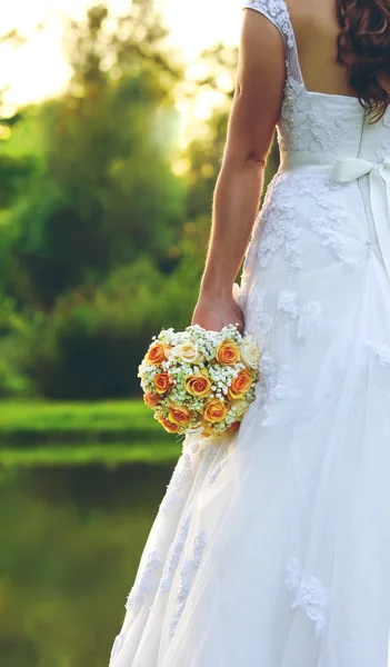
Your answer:
[[[166,38],[152,0],[134,1],[119,19],[98,6],[69,26],[73,74],[69,90],[42,109],[44,168],[18,215],[17,256],[44,308],[140,251],[172,267],[169,248],[183,215],[170,165],[173,101],[183,71]]]

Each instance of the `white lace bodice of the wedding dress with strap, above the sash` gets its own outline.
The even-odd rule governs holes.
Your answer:
[[[284,0],[244,0],[280,31],[286,53],[286,86],[278,122],[281,151],[327,152],[381,161],[390,156],[390,110],[369,126],[354,97],[308,91],[299,64],[294,31]],[[367,138],[367,140],[366,140]]]

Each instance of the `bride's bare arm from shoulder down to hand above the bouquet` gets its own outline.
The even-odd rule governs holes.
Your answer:
[[[256,10],[246,9],[209,249],[192,317],[192,323],[206,329],[220,330],[236,321],[242,325],[232,286],[259,209],[264,165],[282,102],[284,67],[277,28]]]

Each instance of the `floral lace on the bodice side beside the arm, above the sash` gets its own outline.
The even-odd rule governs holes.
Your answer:
[[[312,99],[303,83],[298,82],[288,66],[278,140],[282,151],[332,152],[346,135],[350,113],[338,110],[337,117],[326,113],[326,101]]]

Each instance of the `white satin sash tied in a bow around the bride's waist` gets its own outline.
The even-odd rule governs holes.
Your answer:
[[[361,158],[334,158],[321,152],[284,152],[279,171],[327,172],[334,182],[349,183],[369,177],[370,203],[384,268],[390,280],[390,159],[371,162]]]

